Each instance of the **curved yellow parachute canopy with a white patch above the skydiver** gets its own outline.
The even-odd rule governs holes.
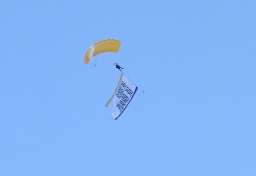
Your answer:
[[[84,64],[88,64],[88,62],[97,54],[114,52],[117,53],[119,51],[121,45],[121,41],[115,39],[107,39],[99,41],[93,44],[90,48],[87,49],[84,55]]]

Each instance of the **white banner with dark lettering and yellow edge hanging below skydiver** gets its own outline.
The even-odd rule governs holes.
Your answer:
[[[136,87],[123,73],[116,86],[115,92],[112,97],[106,103],[111,111],[114,119],[117,119],[130,103],[132,97],[136,93],[138,87]]]

